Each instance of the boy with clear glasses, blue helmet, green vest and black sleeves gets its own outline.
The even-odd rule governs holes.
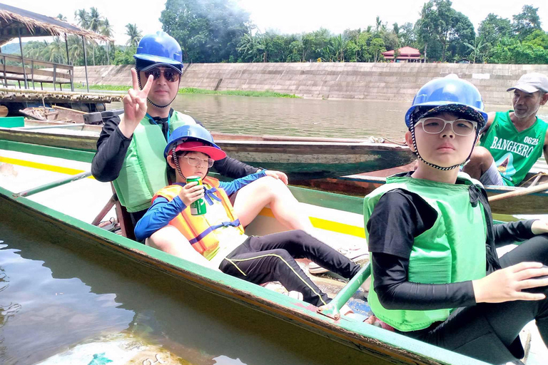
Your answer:
[[[548,274],[548,224],[494,226],[482,185],[459,172],[486,123],[471,83],[430,81],[405,121],[417,170],[364,200],[372,312],[384,327],[476,359],[520,359],[525,324],[536,319],[548,339],[548,279],[538,278]]]

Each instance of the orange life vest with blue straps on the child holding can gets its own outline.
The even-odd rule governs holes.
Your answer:
[[[215,234],[215,230],[227,226],[237,227],[242,234],[244,230],[240,224],[240,220],[235,216],[232,204],[230,203],[225,190],[218,188],[219,180],[206,176],[203,178],[203,184],[213,187],[208,192],[209,199],[211,199],[210,195],[215,195],[213,199],[220,200],[220,202],[223,203],[223,207],[225,208],[226,215],[230,218],[230,222],[223,222],[221,225],[211,226],[205,219],[205,215],[191,215],[191,210],[188,208],[173,218],[169,224],[176,227],[179,232],[186,237],[188,242],[191,242],[194,250],[198,251],[206,259],[212,259],[219,247],[219,240]],[[156,195],[152,198],[152,202],[154,202],[156,197],[165,197],[171,202],[171,200],[181,192],[182,188],[181,185],[166,186],[156,192]]]

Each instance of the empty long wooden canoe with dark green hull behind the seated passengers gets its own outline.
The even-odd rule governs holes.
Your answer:
[[[24,128],[0,128],[0,138],[57,148],[95,151],[101,126],[26,120]],[[232,158],[280,170],[291,179],[335,178],[410,163],[409,148],[386,140],[300,138],[213,133]]]

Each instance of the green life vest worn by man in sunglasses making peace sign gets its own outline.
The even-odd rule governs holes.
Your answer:
[[[190,115],[173,112],[169,130],[181,125],[196,124]],[[120,175],[112,183],[118,200],[128,212],[138,212],[151,206],[152,197],[168,184],[167,163],[163,150],[167,141],[162,128],[146,116],[133,132]]]

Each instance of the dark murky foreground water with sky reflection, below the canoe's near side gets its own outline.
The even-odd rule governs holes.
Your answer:
[[[3,226],[9,247],[0,252],[11,253],[0,259],[16,278],[10,289],[19,291],[23,307],[4,326],[11,360],[4,364],[32,364],[105,331],[144,338],[191,364],[367,361],[360,351],[217,297],[51,223],[6,210],[0,211],[0,222],[14,222]],[[14,270],[16,264],[21,266]],[[34,309],[26,312],[26,306]]]

